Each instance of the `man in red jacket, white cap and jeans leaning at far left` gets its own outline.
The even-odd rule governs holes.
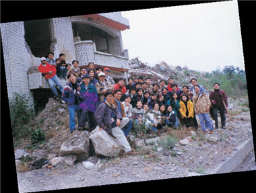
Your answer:
[[[46,62],[46,58],[41,58],[41,64],[38,66],[38,71],[42,73],[44,78],[48,80],[53,93],[55,94],[54,98],[58,98],[58,91],[55,89],[55,84],[59,87],[61,93],[63,92],[63,86],[59,83],[59,79],[56,75],[56,68],[53,65],[50,65]]]

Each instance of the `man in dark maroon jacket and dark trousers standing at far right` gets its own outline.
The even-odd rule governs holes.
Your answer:
[[[210,101],[212,103],[212,117],[215,120],[215,128],[218,128],[218,111],[220,112],[220,120],[222,122],[222,128],[225,129],[225,112],[228,107],[228,100],[226,93],[220,89],[220,83],[214,83],[214,90],[210,92]]]

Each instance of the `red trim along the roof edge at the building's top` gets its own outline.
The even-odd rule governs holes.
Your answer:
[[[129,26],[125,26],[124,24],[121,24],[119,22],[113,21],[108,19],[107,17],[104,17],[102,15],[98,15],[98,14],[90,14],[90,15],[84,15],[84,17],[86,18],[92,18],[95,22],[99,22],[102,24],[106,24],[107,26],[111,26],[113,28],[117,28],[121,31],[129,29]]]

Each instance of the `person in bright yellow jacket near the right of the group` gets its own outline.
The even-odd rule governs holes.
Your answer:
[[[182,122],[186,127],[194,126],[193,117],[194,117],[194,110],[193,110],[193,102],[189,100],[187,95],[183,95],[180,101],[181,108],[179,111],[181,112]]]

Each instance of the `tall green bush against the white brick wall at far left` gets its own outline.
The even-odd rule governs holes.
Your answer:
[[[13,137],[27,134],[28,127],[25,125],[34,116],[33,106],[30,104],[28,97],[25,94],[14,93],[9,107]]]

